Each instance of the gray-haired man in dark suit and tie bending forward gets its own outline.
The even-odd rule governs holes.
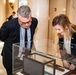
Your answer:
[[[28,40],[32,41],[38,24],[38,20],[31,16],[31,10],[28,6],[19,7],[17,15],[18,18],[4,22],[0,28],[0,40],[4,42],[1,55],[7,75],[12,75],[12,44],[19,43],[24,39],[22,34],[25,30],[29,33],[27,34]]]

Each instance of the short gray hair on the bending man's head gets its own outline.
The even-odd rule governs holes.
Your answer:
[[[18,16],[20,15],[25,18],[28,18],[30,13],[31,13],[31,9],[27,5],[22,5],[17,10],[17,15]]]

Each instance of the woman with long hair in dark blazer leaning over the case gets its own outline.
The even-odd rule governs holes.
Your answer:
[[[60,51],[63,65],[74,70],[76,68],[76,25],[72,24],[64,14],[56,16],[52,25],[59,36]]]

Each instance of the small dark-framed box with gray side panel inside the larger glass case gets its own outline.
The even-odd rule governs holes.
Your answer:
[[[23,72],[29,75],[55,75],[55,59],[39,53],[32,53],[23,60]],[[48,65],[52,65],[52,72],[48,72]]]

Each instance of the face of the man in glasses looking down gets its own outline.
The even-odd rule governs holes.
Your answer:
[[[28,29],[31,26],[31,22],[32,22],[31,15],[29,15],[28,18],[18,16],[18,22],[21,27]]]

